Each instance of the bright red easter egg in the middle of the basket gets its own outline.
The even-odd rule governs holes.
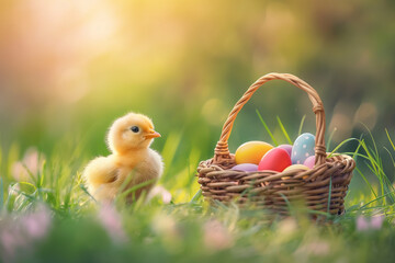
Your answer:
[[[258,170],[272,170],[282,172],[291,164],[291,158],[286,150],[273,148],[262,157],[262,160],[259,162]]]

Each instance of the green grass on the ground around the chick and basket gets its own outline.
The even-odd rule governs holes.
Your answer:
[[[275,145],[283,141],[274,138],[261,121]],[[298,134],[303,122],[304,117]],[[294,138],[280,118],[278,124],[286,142],[292,141]],[[386,135],[385,153],[393,160],[395,147],[387,132]],[[119,214],[114,215],[111,210],[100,211],[83,185],[81,171],[90,157],[83,153],[82,144],[60,141],[55,146],[58,150],[41,157],[37,175],[25,165],[29,176],[21,182],[12,178],[12,164],[19,159],[18,146],[2,149],[0,235],[8,230],[26,237],[18,228],[23,229],[26,215],[34,215],[34,210],[40,214],[43,209],[40,204],[45,204],[52,218],[48,227],[43,225],[48,228],[46,235],[25,238],[16,250],[25,252],[15,252],[13,259],[21,262],[393,262],[394,170],[385,168],[372,135],[347,139],[332,149],[335,155],[354,144],[353,150],[347,152],[358,163],[353,180],[365,185],[351,184],[346,198],[347,213],[340,217],[321,213],[327,219],[320,224],[311,220],[303,207],[292,205],[292,217],[285,219],[273,219],[269,211],[240,209],[236,205],[208,206],[194,176],[201,160],[199,149],[191,149],[182,158],[177,156],[182,136],[170,134],[161,150],[167,168],[159,184],[172,194],[172,202],[163,204],[160,197],[155,197],[148,203],[139,199],[126,206],[120,196]],[[358,231],[357,218],[361,215],[383,215],[384,224],[380,230]],[[112,230],[103,227],[103,218],[112,220]],[[121,233],[114,227],[116,222]],[[4,258],[5,250],[3,245],[2,260],[9,260]]]

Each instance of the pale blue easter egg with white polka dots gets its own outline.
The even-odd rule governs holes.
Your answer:
[[[304,161],[314,156],[315,136],[308,133],[300,135],[292,147],[291,160],[293,164],[303,164]]]

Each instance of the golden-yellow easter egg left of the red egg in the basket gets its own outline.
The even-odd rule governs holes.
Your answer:
[[[267,153],[271,149],[273,149],[273,146],[264,141],[253,140],[242,144],[236,150],[235,153],[236,163],[259,164],[264,153]]]

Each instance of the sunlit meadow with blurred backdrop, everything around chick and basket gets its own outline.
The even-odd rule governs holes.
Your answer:
[[[1,262],[394,262],[394,1],[27,0],[0,4]],[[293,73],[357,161],[341,216],[210,205],[196,168],[259,77]],[[149,199],[100,205],[81,173],[127,112],[153,118]],[[291,84],[264,84],[229,150],[315,134]]]

